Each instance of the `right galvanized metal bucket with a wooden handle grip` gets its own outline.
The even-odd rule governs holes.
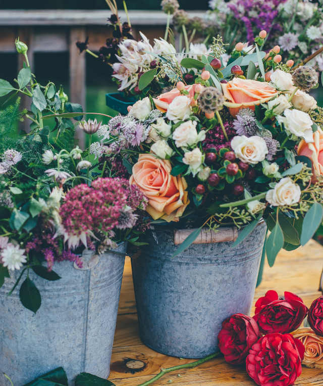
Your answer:
[[[251,311],[266,225],[235,248],[236,228],[202,231],[200,244],[171,259],[192,230],[183,231],[154,225],[149,246],[132,260],[140,336],[160,353],[202,358],[218,350],[223,320]]]

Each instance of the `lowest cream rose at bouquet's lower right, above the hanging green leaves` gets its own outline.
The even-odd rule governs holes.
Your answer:
[[[266,193],[266,201],[275,207],[297,204],[300,198],[301,188],[290,177],[282,178]]]

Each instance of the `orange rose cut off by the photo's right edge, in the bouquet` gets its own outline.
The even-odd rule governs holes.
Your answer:
[[[323,174],[323,131],[320,127],[313,133],[314,142],[306,143],[304,139],[299,142],[297,154],[306,156],[312,161],[312,182]]]

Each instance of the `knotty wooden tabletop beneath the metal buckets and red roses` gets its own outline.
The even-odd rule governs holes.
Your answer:
[[[283,251],[277,257],[273,268],[265,265],[263,280],[256,288],[254,299],[263,296],[268,289],[275,289],[279,294],[289,291],[300,296],[309,307],[311,302],[321,295],[317,288],[322,268],[323,247],[313,240],[306,247],[296,251]],[[159,354],[141,343],[131,265],[130,259],[127,258],[109,379],[117,386],[136,386],[152,378],[161,367],[167,368],[189,362],[192,360]],[[138,366],[143,367],[133,368]],[[323,370],[309,369],[304,366],[302,370],[302,375],[296,380],[295,386],[323,385]],[[223,358],[213,359],[194,369],[172,372],[153,383],[155,386],[167,384],[178,386],[256,385],[243,367],[230,365]]]

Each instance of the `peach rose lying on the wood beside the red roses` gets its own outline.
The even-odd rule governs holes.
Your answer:
[[[291,334],[305,347],[302,364],[307,367],[323,368],[323,337],[316,335],[310,327],[299,328]]]

